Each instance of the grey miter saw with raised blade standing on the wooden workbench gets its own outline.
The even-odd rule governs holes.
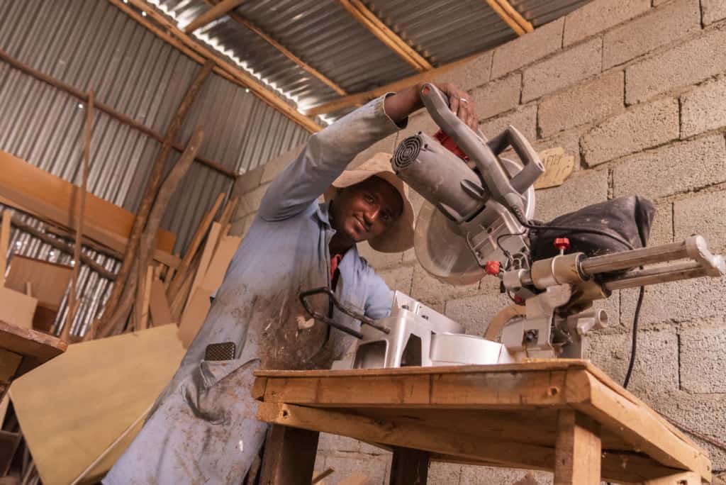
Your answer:
[[[393,296],[391,316],[375,321],[340,304],[329,288],[303,292],[301,301],[314,318],[360,339],[351,359],[334,368],[582,358],[587,333],[608,320],[605,311],[593,309],[593,301],[613,290],[726,274],[724,258],[711,254],[701,236],[645,247],[642,234],[642,244],[635,244],[618,227],[608,226],[612,221],[597,221],[601,224],[594,227],[536,224],[534,182],[544,166],[529,141],[513,126],[492,139],[475,133],[449,110],[433,84],[423,86],[421,98],[464,156],[422,133],[409,136],[393,153],[393,170],[427,201],[416,221],[418,261],[452,285],[497,277],[515,304],[489,322],[482,338],[466,335],[462,325],[400,292]],[[510,147],[520,162],[500,156]],[[543,231],[561,234],[552,238],[555,254],[537,258],[542,250],[533,251],[533,244],[541,245],[537,237]],[[568,253],[568,236],[577,233],[613,244],[603,243],[603,250],[595,244],[589,254]],[[613,247],[624,250],[611,252]],[[315,313],[306,298],[318,293],[327,293],[338,309],[359,319],[362,330]],[[499,334],[500,342],[494,341]]]

